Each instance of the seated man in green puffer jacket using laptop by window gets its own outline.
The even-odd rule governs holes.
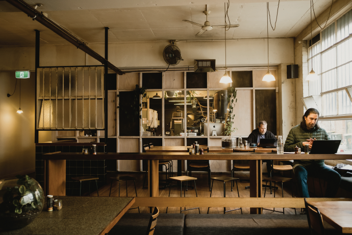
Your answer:
[[[294,152],[294,147],[296,146],[301,148],[301,151],[304,151],[304,145],[308,144],[309,149],[311,149],[314,140],[330,139],[326,131],[317,124],[318,118],[318,110],[314,108],[308,109],[302,117],[302,122],[293,127],[288,133],[284,151]],[[339,173],[329,167],[325,167],[324,160],[310,160],[309,155],[302,156],[307,159],[294,160],[292,165],[301,197],[309,198],[308,175],[327,181],[328,186],[326,187],[325,197],[335,197],[341,181]]]

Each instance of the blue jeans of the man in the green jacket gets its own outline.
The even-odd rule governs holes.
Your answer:
[[[304,198],[309,198],[307,184],[308,175],[324,179],[326,182],[328,182],[325,192],[326,198],[335,197],[341,181],[340,174],[337,173],[335,170],[329,167],[321,167],[315,164],[312,164],[308,167],[297,166],[294,168],[294,174],[296,177],[298,193],[301,195],[301,197]]]

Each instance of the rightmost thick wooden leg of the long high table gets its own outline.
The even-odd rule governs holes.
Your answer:
[[[262,160],[249,160],[250,173],[250,197],[262,197]],[[262,208],[250,208],[250,214],[262,214]]]

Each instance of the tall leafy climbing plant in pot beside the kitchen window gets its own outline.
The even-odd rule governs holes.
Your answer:
[[[234,127],[235,114],[233,113],[234,107],[237,103],[237,90],[234,87],[228,87],[228,110],[229,111],[229,121],[225,123],[224,132],[225,136],[221,138],[222,148],[236,148],[236,137],[232,137],[232,133],[236,132],[237,128]]]

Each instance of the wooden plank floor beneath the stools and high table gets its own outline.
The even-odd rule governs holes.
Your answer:
[[[136,177],[136,188],[137,188],[137,195],[139,197],[148,197],[148,189],[143,189],[143,180],[144,180],[144,174],[142,173],[120,173],[120,174],[112,174],[108,176],[108,182],[106,185],[101,187],[99,189],[99,196],[109,196],[110,192],[110,179],[109,177],[112,176],[132,176]],[[174,174],[174,176],[176,176]],[[217,177],[217,176],[230,176],[230,174],[212,174],[212,177]],[[235,176],[235,177],[242,177],[242,178],[248,178],[249,175],[240,175],[240,176]],[[160,173],[159,177],[161,179],[165,178],[165,174]],[[210,197],[210,191],[209,191],[209,186],[208,186],[208,175],[207,174],[192,174],[192,177],[196,177],[196,187],[197,187],[197,194],[198,197]],[[245,186],[249,185],[249,181],[238,181],[238,190],[240,197],[249,197],[249,189],[246,190]],[[175,182],[173,182],[175,183]],[[130,197],[135,197],[135,188],[133,181],[128,181],[127,182],[127,190],[128,190],[128,196]],[[147,186],[147,181],[145,182]],[[265,182],[264,182],[265,184]],[[193,186],[193,182],[192,182]],[[278,185],[276,185],[278,186]],[[184,189],[184,187],[182,187]],[[167,187],[166,189],[159,189],[159,197],[168,197],[169,196],[169,190],[170,188]],[[182,197],[184,195],[184,190],[182,190]],[[87,194],[88,195],[88,194]],[[86,195],[86,196],[87,196]],[[264,188],[263,188],[263,195],[264,195]],[[279,189],[276,190],[276,197],[282,197],[282,191],[281,191],[281,185],[279,185]],[[96,192],[91,193],[91,196],[97,196]],[[126,183],[125,182],[120,182],[120,196],[121,197],[126,197]],[[195,190],[194,189],[188,189],[186,191],[186,197],[195,197]],[[118,185],[117,182],[114,181],[112,184],[112,189],[111,189],[111,197],[118,197]],[[180,197],[180,186],[172,186],[171,187],[171,192],[170,192],[170,197]],[[214,181],[214,186],[213,186],[213,193],[212,197],[223,197],[223,183],[219,181]],[[236,183],[235,186],[233,187],[233,191],[231,192],[231,184],[228,182],[226,184],[226,197],[238,197],[237,196],[237,189],[236,189]],[[265,197],[274,197],[274,192],[270,194],[270,190],[266,190],[266,196]],[[284,183],[284,197],[292,197],[291,195],[291,184],[290,182]],[[166,207],[160,207],[160,213],[166,213]],[[184,209],[184,208],[183,208]],[[186,208],[187,209],[187,208]],[[236,209],[236,208],[230,208],[227,207],[226,210],[230,209]],[[268,208],[272,209],[272,208]],[[200,213],[201,214],[207,214],[207,207],[201,207],[200,208]],[[279,210],[280,212],[283,211],[283,208],[275,208],[275,210]],[[278,215],[283,215],[282,213],[278,212],[271,212],[269,210],[263,210],[264,214],[278,214]],[[300,208],[296,208],[297,214],[300,213]],[[243,214],[249,214],[249,208],[242,208]],[[138,213],[138,209],[131,209],[129,210],[128,213]],[[149,213],[148,207],[140,207],[140,213]],[[180,213],[180,207],[169,207],[167,210],[167,213]],[[182,212],[184,214],[191,214],[191,213],[198,213],[198,209],[193,209],[193,210],[187,210],[185,212]],[[223,208],[210,208],[209,210],[210,214],[223,214]],[[285,214],[294,214],[294,209],[293,208],[285,208]],[[241,214],[241,210],[234,210],[233,212],[227,212],[226,214]]]

